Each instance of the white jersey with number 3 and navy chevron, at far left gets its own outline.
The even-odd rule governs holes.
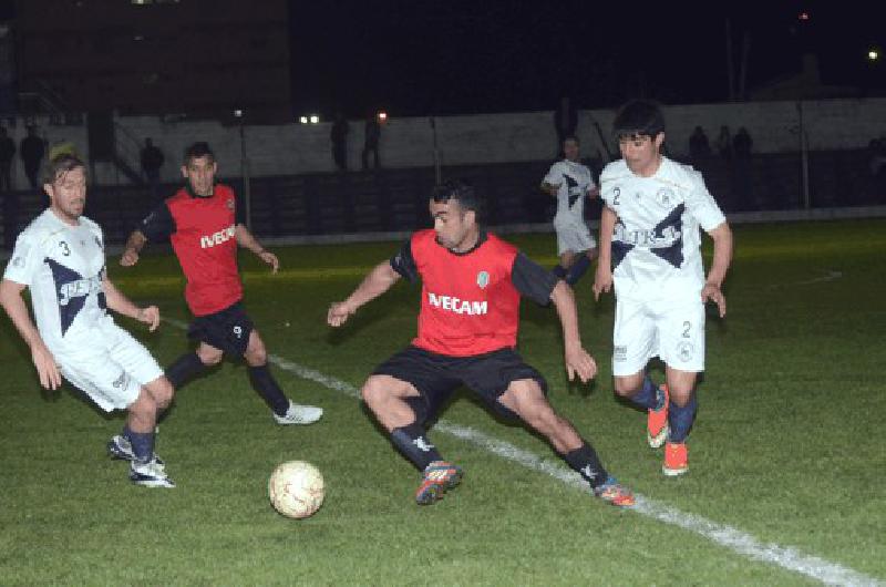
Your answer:
[[[71,226],[48,208],[16,240],[3,278],[30,289],[37,328],[53,354],[82,353],[112,322],[104,264],[102,229],[84,216]]]

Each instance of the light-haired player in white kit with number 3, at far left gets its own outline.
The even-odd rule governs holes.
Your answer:
[[[105,412],[128,411],[123,434],[107,449],[131,462],[133,483],[174,487],[154,453],[157,414],[172,401],[173,387],[144,346],[107,315],[110,308],[153,331],[159,311],[135,306],[107,279],[102,230],[82,216],[83,162],[69,154],[48,162],[43,189],[50,207],[19,235],[0,305],[28,343],[43,388],[59,388],[64,377]],[[35,326],[22,298],[25,287]]]

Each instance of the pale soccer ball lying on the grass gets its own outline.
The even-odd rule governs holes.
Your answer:
[[[289,461],[274,470],[268,480],[268,496],[274,508],[287,517],[301,519],[323,504],[323,476],[310,463]]]

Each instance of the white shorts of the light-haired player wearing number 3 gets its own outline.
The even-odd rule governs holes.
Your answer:
[[[105,412],[125,410],[142,387],[163,375],[144,346],[113,322],[101,327],[73,352],[53,351],[64,379],[81,389]],[[78,341],[73,341],[78,342]]]

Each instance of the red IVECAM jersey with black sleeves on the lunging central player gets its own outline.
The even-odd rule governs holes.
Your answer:
[[[519,297],[547,303],[557,278],[495,235],[453,253],[421,230],[391,259],[411,281],[422,280],[419,333],[412,344],[450,357],[473,357],[517,344]]]

